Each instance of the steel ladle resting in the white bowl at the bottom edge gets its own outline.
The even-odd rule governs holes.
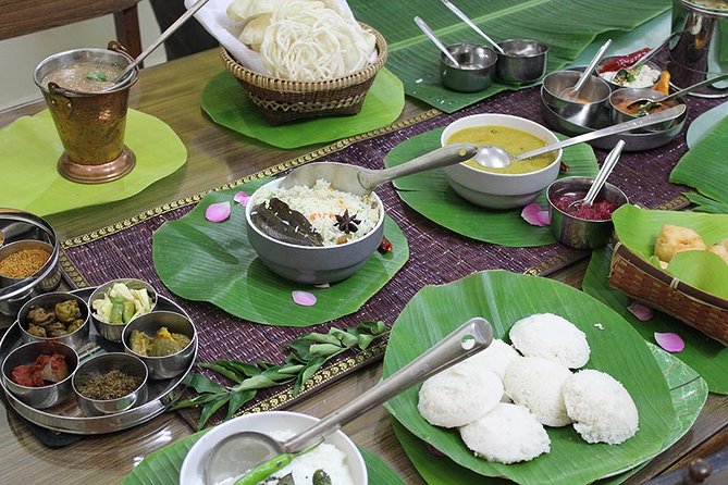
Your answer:
[[[221,440],[205,463],[205,482],[219,483],[231,476],[240,476],[259,464],[282,453],[299,452],[320,443],[343,424],[363,414],[408,387],[424,381],[437,372],[483,350],[493,340],[491,324],[474,318],[460,325],[443,340],[420,357],[381,381],[369,391],[360,395],[338,410],[323,418],[313,426],[280,443],[259,432],[242,432]],[[231,470],[234,467],[234,470]],[[273,470],[272,473],[275,473]],[[261,476],[260,480],[263,480]]]

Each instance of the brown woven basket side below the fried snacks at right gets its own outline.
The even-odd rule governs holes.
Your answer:
[[[728,345],[728,300],[680,282],[619,242],[612,254],[609,285]]]

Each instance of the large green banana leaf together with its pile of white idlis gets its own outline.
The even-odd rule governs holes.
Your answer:
[[[392,328],[384,376],[472,316],[491,322],[494,344],[385,405],[411,434],[521,484],[591,483],[663,449],[676,415],[646,343],[552,279],[485,271],[423,288]]]

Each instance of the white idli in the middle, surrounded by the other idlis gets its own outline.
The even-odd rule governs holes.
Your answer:
[[[517,405],[525,406],[547,426],[571,423],[564,406],[562,387],[571,371],[553,360],[541,357],[519,357],[510,361],[503,378],[506,394]]]

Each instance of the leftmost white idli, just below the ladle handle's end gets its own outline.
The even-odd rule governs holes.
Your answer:
[[[464,426],[493,409],[503,396],[503,383],[491,371],[464,372],[452,366],[420,387],[417,409],[435,426]]]

